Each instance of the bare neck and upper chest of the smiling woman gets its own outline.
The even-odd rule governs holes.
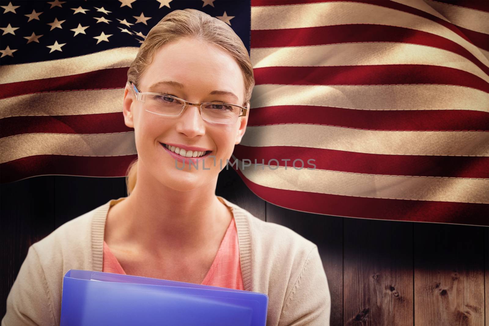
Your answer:
[[[110,208],[104,236],[109,245],[184,253],[221,241],[232,213],[215,195],[217,177],[186,192],[146,181],[138,175],[131,195]]]

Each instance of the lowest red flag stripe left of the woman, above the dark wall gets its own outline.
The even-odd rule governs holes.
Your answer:
[[[137,154],[123,156],[34,155],[0,164],[0,183],[38,175],[125,176]]]

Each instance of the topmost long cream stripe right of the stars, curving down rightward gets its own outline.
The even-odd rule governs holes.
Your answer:
[[[479,48],[457,33],[429,19],[396,9],[355,2],[251,7],[252,30],[379,23],[442,36],[462,45],[484,65],[489,66],[488,58],[481,53]]]

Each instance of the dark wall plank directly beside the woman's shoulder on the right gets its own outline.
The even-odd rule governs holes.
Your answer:
[[[343,217],[297,212],[267,203],[267,222],[284,225],[317,245],[331,294],[330,325],[342,325]]]

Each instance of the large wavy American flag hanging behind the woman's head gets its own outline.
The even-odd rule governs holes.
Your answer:
[[[256,86],[233,157],[252,162],[238,174],[257,196],[317,214],[489,226],[488,1],[1,8],[1,182],[124,176],[137,157],[121,114],[127,67],[163,16],[196,8],[250,44]],[[294,169],[298,159],[315,169]]]

